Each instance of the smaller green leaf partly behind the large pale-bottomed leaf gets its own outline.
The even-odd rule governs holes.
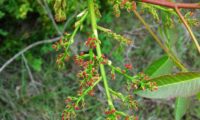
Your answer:
[[[166,55],[164,55],[160,59],[155,60],[144,72],[150,76],[150,78],[154,78],[159,75],[170,73],[172,68],[173,62]]]

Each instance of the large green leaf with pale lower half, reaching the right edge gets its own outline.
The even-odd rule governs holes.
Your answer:
[[[146,98],[174,98],[188,97],[200,91],[200,73],[183,72],[175,75],[163,75],[152,78],[149,82],[156,82],[157,91],[137,91],[136,94]]]

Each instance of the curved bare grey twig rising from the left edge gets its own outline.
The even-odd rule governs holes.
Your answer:
[[[6,61],[6,63],[4,63],[1,68],[0,68],[0,73],[5,69],[6,66],[8,66],[11,62],[13,62],[17,57],[19,57],[20,55],[22,55],[23,53],[25,53],[26,51],[28,51],[29,49],[41,45],[41,44],[45,44],[45,43],[52,43],[52,42],[56,42],[60,39],[60,37],[56,37],[56,38],[52,38],[52,39],[48,39],[48,40],[42,40],[42,41],[38,41],[35,42],[29,46],[27,46],[26,48],[22,49],[20,52],[18,52],[17,54],[15,54],[12,58],[10,58],[9,60]]]

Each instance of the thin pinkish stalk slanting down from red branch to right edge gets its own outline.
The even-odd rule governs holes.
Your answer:
[[[185,25],[186,29],[188,30],[193,42],[195,43],[196,45],[196,48],[197,50],[199,51],[200,53],[200,46],[199,46],[199,43],[196,39],[196,37],[194,36],[194,33],[192,32],[192,29],[190,28],[190,26],[188,25],[187,21],[184,19],[183,15],[181,14],[179,8],[175,7],[175,11],[176,13],[178,14],[178,16],[180,17],[181,21],[183,22],[183,24]]]

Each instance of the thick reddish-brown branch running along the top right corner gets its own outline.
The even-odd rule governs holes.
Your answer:
[[[200,3],[175,3],[166,0],[141,0],[141,2],[160,5],[168,8],[177,7],[177,8],[200,9]]]

